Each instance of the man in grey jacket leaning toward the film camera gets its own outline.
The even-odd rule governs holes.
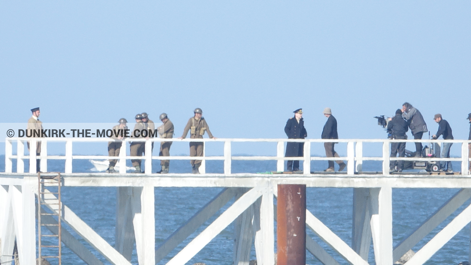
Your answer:
[[[408,102],[402,104],[402,117],[407,121],[414,139],[422,139],[423,133],[429,131],[422,114]],[[415,143],[415,156],[422,156],[422,143]]]

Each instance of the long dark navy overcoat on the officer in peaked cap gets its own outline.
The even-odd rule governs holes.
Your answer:
[[[304,120],[301,118],[298,121],[296,118],[290,118],[286,121],[286,126],[284,127],[284,132],[288,139],[304,139],[308,137],[306,128],[304,128]],[[286,144],[286,153],[284,156],[293,157],[293,156],[303,156],[304,155],[304,143],[290,143]]]

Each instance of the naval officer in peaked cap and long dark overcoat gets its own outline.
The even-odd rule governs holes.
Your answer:
[[[286,121],[284,126],[284,132],[288,139],[304,139],[308,136],[306,128],[304,128],[304,120],[302,119],[302,109],[294,111],[294,117]],[[304,143],[288,142],[286,143],[285,157],[295,157],[304,155]],[[299,160],[288,160],[287,163],[288,171],[299,171]]]

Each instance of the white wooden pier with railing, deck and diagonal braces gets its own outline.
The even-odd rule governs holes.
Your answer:
[[[16,239],[18,256],[21,265],[36,264],[36,213],[38,180],[34,173],[37,157],[24,155],[25,138],[7,138],[5,155],[5,172],[0,173],[0,256],[1,264],[11,264],[13,244]],[[49,139],[46,139],[49,140]],[[190,160],[189,156],[153,156],[150,152],[152,141],[182,141],[194,139],[159,139],[146,141],[143,157],[126,156],[126,148],[122,145],[119,157],[73,155],[75,142],[107,142],[108,139],[66,138],[54,142],[65,142],[65,156],[53,156],[47,153],[47,141],[41,139],[41,171],[47,171],[47,160],[65,160],[65,173],[62,174],[63,186],[108,186],[117,187],[116,236],[115,245],[111,246],[89,227],[80,217],[75,215],[66,205],[62,205],[62,221],[71,227],[79,236],[87,241],[113,265],[130,265],[130,256],[134,241],[138,253],[139,265],[154,265],[195,232],[205,221],[212,217],[228,201],[235,197],[235,202],[219,215],[203,232],[171,257],[167,265],[185,265],[204,248],[215,236],[232,223],[235,224],[235,245],[233,260],[237,265],[248,265],[250,249],[255,245],[259,265],[274,265],[275,227],[273,203],[276,200],[276,185],[305,184],[307,187],[351,187],[354,188],[352,215],[352,243],[342,241],[326,225],[307,211],[306,224],[321,240],[337,252],[343,260],[335,260],[317,242],[307,238],[307,250],[325,265],[345,264],[367,265],[371,242],[374,246],[374,260],[377,265],[391,265],[409,249],[439,226],[447,217],[455,212],[471,198],[471,176],[468,172],[468,140],[436,140],[432,142],[453,142],[453,148],[461,148],[461,157],[439,159],[441,161],[461,161],[459,175],[391,175],[389,172],[390,158],[389,139],[338,139],[336,142],[347,143],[347,156],[335,160],[347,161],[346,174],[311,174],[310,161],[326,161],[329,158],[311,156],[311,143],[330,142],[322,139],[198,139],[198,141],[224,142],[223,156],[204,156],[200,168],[202,174],[152,174],[152,160]],[[127,141],[127,140],[126,140]],[[284,157],[284,143],[305,142],[304,157]],[[400,140],[404,142],[405,140]],[[12,153],[16,142],[16,155]],[[233,156],[231,144],[234,142],[274,142],[274,156]],[[406,140],[414,142],[414,140]],[[421,142],[428,143],[429,140]],[[363,156],[364,143],[382,143],[381,157]],[[156,143],[158,145],[159,143]],[[35,140],[30,143],[35,150]],[[276,152],[275,152],[276,151]],[[343,152],[341,152],[343,153]],[[76,159],[119,159],[120,172],[106,173],[73,173],[72,161]],[[144,174],[126,173],[125,163],[129,159],[145,160]],[[12,172],[12,161],[16,160],[17,170]],[[204,161],[224,161],[224,173],[205,173]],[[233,160],[272,160],[277,161],[276,170],[283,171],[285,160],[303,161],[303,174],[261,175],[252,173],[233,174]],[[429,160],[429,158],[401,158],[401,160]],[[437,159],[435,159],[437,160]],[[371,174],[362,172],[363,161],[382,161],[382,172]],[[29,173],[24,172],[24,163],[29,163]],[[274,169],[275,170],[275,169]],[[154,187],[224,187],[225,189],[213,198],[187,222],[175,227],[175,232],[160,246],[155,245],[154,220]],[[393,246],[392,238],[392,189],[393,188],[460,188],[435,213],[410,228],[410,235],[402,242]],[[48,199],[55,199],[54,195]],[[309,198],[308,198],[309,200]],[[57,207],[49,206],[50,211]],[[45,220],[47,222],[47,220]],[[406,265],[422,265],[447,241],[464,226],[471,222],[471,206],[466,207],[448,225],[437,233],[425,246],[412,257]],[[64,245],[73,250],[89,265],[103,264],[91,252],[65,229],[62,230]],[[469,246],[466,246],[469,248]],[[228,250],[230,253],[230,250]]]

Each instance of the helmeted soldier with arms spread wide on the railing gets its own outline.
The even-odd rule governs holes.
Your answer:
[[[190,138],[203,138],[204,132],[207,131],[208,136],[215,139],[216,137],[212,136],[206,120],[202,117],[203,111],[200,108],[196,108],[194,113],[195,116],[188,120],[187,126],[183,129],[183,135],[179,139],[187,137],[188,131],[190,131]],[[190,142],[190,156],[203,156],[203,142]],[[199,174],[201,160],[190,160],[190,164],[191,172]]]

